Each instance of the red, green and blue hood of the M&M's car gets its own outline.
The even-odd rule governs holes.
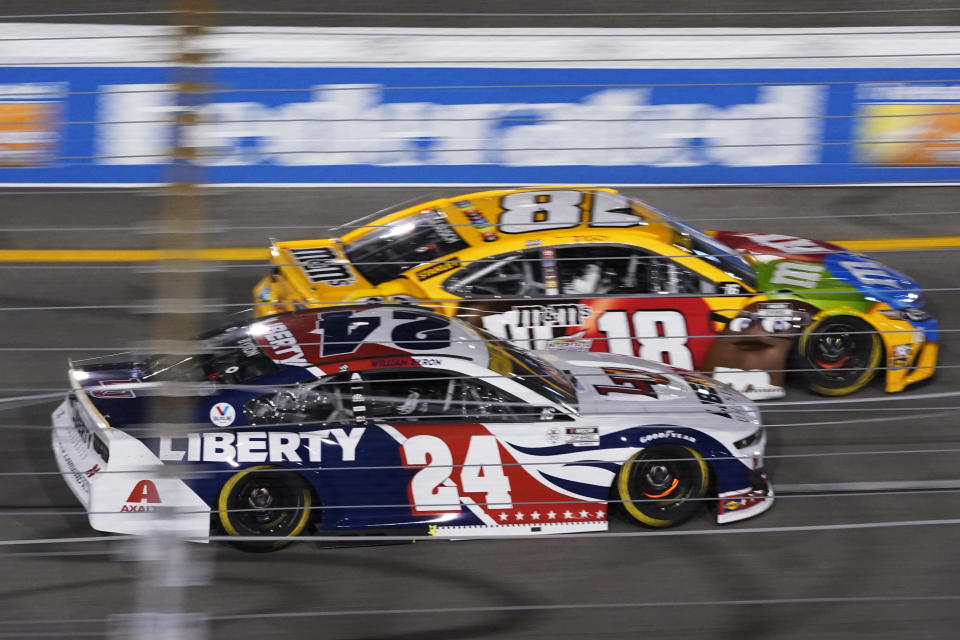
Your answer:
[[[714,235],[752,258],[762,291],[789,290],[812,298],[818,297],[818,291],[841,292],[831,293],[825,306],[850,300],[885,302],[894,309],[921,306],[921,288],[915,281],[841,246],[779,234],[718,231]]]

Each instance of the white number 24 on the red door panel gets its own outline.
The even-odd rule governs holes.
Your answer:
[[[408,488],[415,514],[459,512],[461,500],[470,501],[461,498],[462,493],[483,494],[477,502],[487,509],[513,508],[510,479],[503,473],[494,436],[471,436],[461,463],[454,463],[446,442],[431,435],[407,438],[400,452],[405,466],[423,466]],[[459,485],[454,476],[459,478]]]

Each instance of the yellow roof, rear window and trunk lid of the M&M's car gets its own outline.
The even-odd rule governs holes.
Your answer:
[[[277,242],[273,260],[289,264],[280,255],[288,252],[310,286],[363,286],[363,280],[375,286],[423,265],[428,266],[415,272],[418,281],[439,275],[454,268],[457,254],[464,251],[503,253],[544,241],[627,241],[671,245],[682,253],[681,237],[669,216],[613,189],[539,187],[423,202],[366,222],[339,240]],[[439,264],[443,260],[448,263]]]

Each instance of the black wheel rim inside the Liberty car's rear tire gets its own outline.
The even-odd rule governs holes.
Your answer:
[[[293,530],[305,506],[303,492],[267,474],[251,474],[234,490],[230,521],[247,536],[284,536]]]

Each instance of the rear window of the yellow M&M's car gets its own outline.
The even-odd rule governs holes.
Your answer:
[[[344,251],[354,268],[370,284],[378,285],[467,246],[442,211],[428,209],[371,231]]]

